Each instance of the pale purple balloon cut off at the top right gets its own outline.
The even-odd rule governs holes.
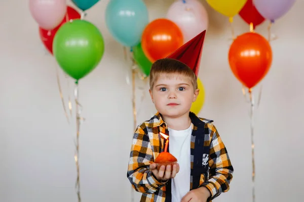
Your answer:
[[[256,10],[266,19],[274,21],[285,15],[295,0],[254,0]]]

